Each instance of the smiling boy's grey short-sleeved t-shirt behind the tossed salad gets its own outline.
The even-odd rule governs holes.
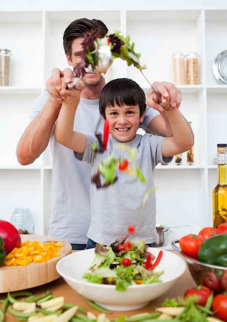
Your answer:
[[[137,149],[136,165],[141,169],[147,179],[146,183],[117,169],[117,181],[106,188],[96,188],[91,185],[91,224],[88,237],[97,243],[110,245],[117,238],[127,234],[129,224],[135,225],[135,234],[130,240],[144,239],[153,243],[156,240],[156,201],[153,172],[155,166],[160,163],[169,163],[172,157],[162,157],[162,142],[165,138],[151,134],[139,135],[128,142],[130,148]],[[83,154],[74,152],[77,159],[91,165],[92,175],[97,172],[98,165],[103,158],[114,152],[115,157],[123,154],[128,158],[127,152],[116,149],[116,142],[110,135],[107,151],[94,154],[92,144],[96,141],[95,135],[86,135],[86,147]],[[123,144],[124,145],[124,144]],[[82,162],[83,163],[83,162]],[[129,164],[130,168],[130,164]],[[148,189],[154,189],[149,195],[148,201],[143,206],[144,195]]]

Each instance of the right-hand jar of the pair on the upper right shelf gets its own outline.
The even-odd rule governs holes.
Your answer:
[[[187,85],[199,84],[199,55],[189,52],[186,56],[186,79]]]

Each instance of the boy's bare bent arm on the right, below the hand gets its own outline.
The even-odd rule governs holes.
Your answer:
[[[190,150],[194,145],[194,134],[188,121],[178,109],[165,111],[165,114],[171,127],[172,136],[166,137],[163,141],[163,156],[173,156]]]

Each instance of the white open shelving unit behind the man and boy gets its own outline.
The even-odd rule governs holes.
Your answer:
[[[217,181],[216,147],[225,143],[227,85],[218,83],[212,64],[227,43],[227,3],[209,1],[87,0],[20,1],[0,7],[0,47],[10,49],[10,86],[0,87],[0,218],[9,220],[15,207],[29,207],[35,234],[48,234],[51,215],[52,162],[49,148],[29,166],[16,160],[16,144],[28,124],[33,100],[45,90],[53,67],[67,67],[62,45],[65,28],[80,17],[96,18],[110,31],[130,35],[145,76],[153,82],[173,82],[174,52],[199,55],[199,84],[178,85],[181,111],[195,133],[194,165],[174,161],[155,170],[157,222],[174,228],[170,239],[197,233],[212,225],[212,190]],[[138,69],[116,59],[111,77],[134,79],[148,92],[149,84]],[[183,156],[183,159],[185,155]],[[143,211],[143,209],[141,210]]]

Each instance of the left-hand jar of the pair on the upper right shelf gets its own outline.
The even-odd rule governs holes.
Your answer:
[[[172,55],[173,83],[185,85],[185,56],[181,52]]]

